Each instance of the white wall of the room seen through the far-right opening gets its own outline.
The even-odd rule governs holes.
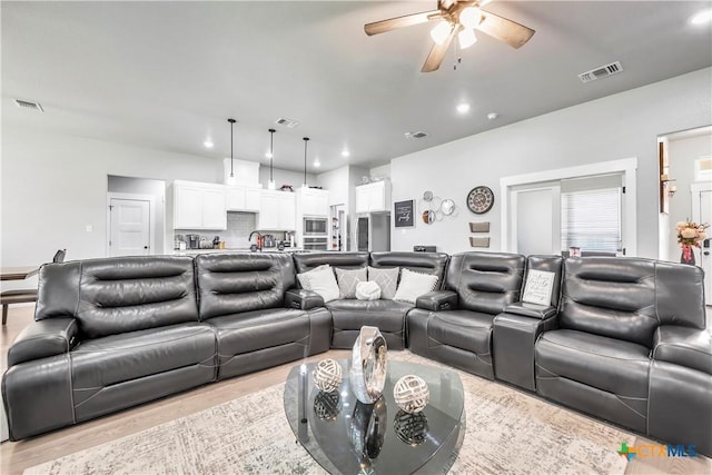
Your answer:
[[[692,219],[692,194],[690,185],[694,182],[694,161],[703,156],[712,155],[712,136],[692,137],[689,139],[670,139],[670,178],[675,179],[671,184],[678,187],[675,195],[670,198],[670,224],[668,229],[669,259],[680,261],[680,245],[675,224]],[[700,254],[695,249],[696,259]]]

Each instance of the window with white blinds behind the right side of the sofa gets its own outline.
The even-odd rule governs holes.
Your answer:
[[[563,249],[615,253],[621,248],[621,188],[599,188],[561,194]]]

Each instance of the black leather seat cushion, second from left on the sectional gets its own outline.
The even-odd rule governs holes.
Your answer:
[[[280,345],[309,345],[309,315],[296,308],[266,308],[210,318],[220,359]],[[222,363],[220,363],[222,364]]]

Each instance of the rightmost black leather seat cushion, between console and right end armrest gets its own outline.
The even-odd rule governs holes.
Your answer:
[[[621,398],[647,399],[650,350],[635,343],[570,329],[536,343],[537,378],[563,377]]]

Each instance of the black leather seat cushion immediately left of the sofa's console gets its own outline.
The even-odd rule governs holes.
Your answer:
[[[431,314],[427,324],[429,346],[447,345],[478,355],[490,355],[494,315],[471,310]]]

